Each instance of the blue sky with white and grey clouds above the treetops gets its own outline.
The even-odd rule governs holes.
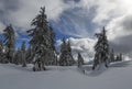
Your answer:
[[[73,49],[91,53],[95,33],[106,26],[111,48],[131,56],[131,0],[0,0],[0,33],[11,23],[16,32],[16,46],[22,41],[28,43],[30,37],[25,32],[32,29],[31,21],[41,7],[45,7],[56,33],[56,45],[65,37],[72,40]]]

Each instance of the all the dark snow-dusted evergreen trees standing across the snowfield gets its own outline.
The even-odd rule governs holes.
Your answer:
[[[31,37],[30,46],[26,48],[25,42],[22,42],[20,48],[15,49],[15,32],[10,24],[3,30],[3,38],[0,40],[0,63],[15,64],[26,67],[28,64],[33,64],[33,70],[46,70],[46,66],[73,66],[77,65],[80,68],[85,60],[79,52],[77,60],[72,54],[70,41],[62,40],[59,57],[55,47],[55,32],[47,21],[45,8],[41,8],[40,13],[32,20],[31,26],[26,33]],[[95,45],[94,66],[105,65],[109,67],[112,62],[122,60],[122,54],[114,55],[114,51],[110,49],[109,43],[103,27],[101,33],[96,34],[98,41]]]

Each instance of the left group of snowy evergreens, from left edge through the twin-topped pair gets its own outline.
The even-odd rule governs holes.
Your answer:
[[[57,58],[55,33],[47,21],[45,8],[41,8],[40,13],[32,20],[31,26],[33,29],[26,31],[31,37],[29,48],[25,42],[22,42],[21,47],[15,49],[15,32],[11,24],[3,30],[3,38],[0,41],[0,63],[22,65],[22,67],[33,64],[34,71],[46,70],[48,65],[72,66],[75,64],[69,42],[64,41],[59,58]]]

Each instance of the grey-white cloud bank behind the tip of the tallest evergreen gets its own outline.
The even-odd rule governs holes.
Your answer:
[[[2,16],[4,16],[3,21],[7,24],[12,23],[14,26],[19,27],[22,31],[26,31],[31,27],[30,23],[38,13],[41,7],[46,8],[48,20],[54,21],[56,21],[59,18],[61,13],[68,8],[63,2],[63,0],[18,0],[16,3],[15,1],[12,1],[14,5],[19,4],[19,7],[16,7],[16,10],[7,10],[7,8],[2,5],[8,5],[8,2],[7,4],[3,3],[4,0],[1,1],[0,9],[1,11],[3,11],[3,13],[1,13],[1,15],[3,14]]]

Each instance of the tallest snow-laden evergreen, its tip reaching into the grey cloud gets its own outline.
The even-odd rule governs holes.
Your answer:
[[[40,14],[33,19],[31,25],[34,29],[28,31],[32,36],[30,44],[32,46],[34,67],[33,70],[45,70],[45,65],[54,56],[54,32],[48,25],[45,14],[45,8],[41,8]]]

